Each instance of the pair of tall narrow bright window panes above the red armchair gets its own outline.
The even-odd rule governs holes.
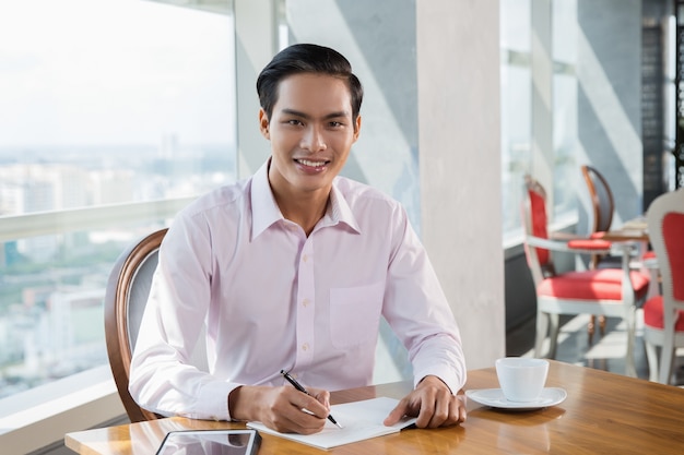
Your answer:
[[[504,244],[519,241],[522,235],[522,182],[524,173],[532,172],[531,8],[530,0],[500,2]],[[577,216],[579,176],[577,1],[554,1],[551,12],[553,163],[547,167],[553,176],[547,177],[553,181],[553,218],[571,220]]]

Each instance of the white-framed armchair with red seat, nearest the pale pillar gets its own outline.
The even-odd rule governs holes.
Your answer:
[[[547,356],[555,358],[561,314],[597,314],[621,318],[627,325],[626,373],[636,375],[634,366],[635,312],[644,302],[650,278],[629,268],[629,243],[612,246],[598,239],[550,239],[544,189],[526,177],[523,204],[524,250],[536,291],[536,338],[534,356],[542,356],[549,334]],[[556,273],[552,251],[576,254],[609,254],[623,251],[621,268],[595,268]]]

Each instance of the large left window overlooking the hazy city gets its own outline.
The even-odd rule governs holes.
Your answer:
[[[227,14],[140,0],[0,3],[0,225],[83,207],[111,207],[113,218],[1,230],[0,397],[107,363],[115,259],[166,224],[157,201],[235,178],[234,74]],[[127,208],[142,202],[150,213]]]

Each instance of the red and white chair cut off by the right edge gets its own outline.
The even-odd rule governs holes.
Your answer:
[[[644,340],[650,380],[669,384],[675,349],[684,347],[684,189],[658,196],[647,220],[661,294],[644,306]],[[661,347],[660,361],[656,346]]]

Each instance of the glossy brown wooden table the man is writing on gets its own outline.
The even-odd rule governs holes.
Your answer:
[[[684,390],[551,361],[550,387],[563,387],[562,404],[533,411],[504,411],[468,404],[460,427],[409,429],[401,433],[321,451],[263,434],[259,454],[682,454]],[[497,387],[493,368],[469,372],[468,388]],[[408,383],[354,388],[332,394],[333,403],[374,396],[400,398]],[[162,419],[68,433],[67,446],[83,454],[154,454],[168,431],[244,428],[239,423],[185,418]]]

